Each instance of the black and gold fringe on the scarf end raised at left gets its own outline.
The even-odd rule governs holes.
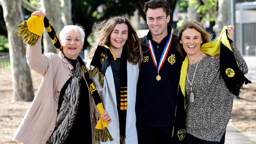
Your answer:
[[[39,39],[39,35],[32,33],[28,30],[28,24],[26,21],[22,22],[18,27],[18,32],[17,35],[21,36],[24,35],[23,37],[23,42],[27,43],[31,46],[35,46],[35,43]]]

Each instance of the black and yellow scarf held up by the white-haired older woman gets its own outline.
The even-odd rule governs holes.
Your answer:
[[[61,44],[59,42],[58,36],[54,31],[52,24],[46,17],[45,18],[43,18],[43,16],[30,17],[28,20],[26,20],[25,22],[22,22],[22,24],[18,26],[19,30],[17,35],[18,36],[24,35],[23,42],[31,46],[34,46],[37,40],[39,39],[39,37],[43,34],[43,27],[45,27],[46,31],[48,32],[54,46],[58,50],[61,50]],[[96,89],[96,86],[93,83],[93,81],[89,78],[89,71],[87,70],[82,58],[79,55],[77,58],[82,68],[82,71],[84,72],[85,79],[89,85],[89,90],[93,96],[93,100],[96,104],[96,107],[99,113],[103,114],[104,108],[103,108],[100,96],[98,94],[98,91]],[[94,137],[95,142],[98,142],[98,141],[107,142],[108,140],[113,141],[113,138],[108,131],[108,122],[103,122],[102,118],[100,118],[95,128],[96,128],[95,137]]]

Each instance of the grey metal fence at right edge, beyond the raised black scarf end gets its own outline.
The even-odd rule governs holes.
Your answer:
[[[236,24],[236,44],[245,56],[256,56],[256,22]]]

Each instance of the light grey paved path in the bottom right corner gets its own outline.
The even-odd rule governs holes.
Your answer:
[[[250,138],[238,131],[232,124],[228,124],[225,144],[256,144],[256,142],[253,142]]]

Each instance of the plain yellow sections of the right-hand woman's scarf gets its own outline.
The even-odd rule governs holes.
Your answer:
[[[220,52],[221,42],[227,48],[229,48],[231,50],[231,46],[230,46],[230,43],[229,43],[227,35],[226,35],[226,30],[228,30],[228,26],[223,27],[218,40],[202,44],[202,46],[200,47],[200,50],[202,50],[202,52],[204,52],[205,54],[208,54],[208,55],[211,55],[211,56],[217,55]],[[185,96],[185,83],[186,83],[187,66],[188,66],[188,57],[186,56],[185,60],[182,63],[182,67],[181,67],[181,70],[180,70],[180,83],[179,83],[180,89],[181,89],[182,94],[184,96]]]

